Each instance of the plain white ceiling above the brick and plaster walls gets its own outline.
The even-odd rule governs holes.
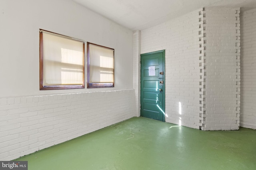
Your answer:
[[[78,4],[128,27],[142,30],[202,7],[256,8],[256,0],[73,0]]]

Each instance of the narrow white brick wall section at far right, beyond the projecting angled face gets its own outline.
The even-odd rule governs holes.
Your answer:
[[[240,126],[256,129],[256,9],[241,18]]]

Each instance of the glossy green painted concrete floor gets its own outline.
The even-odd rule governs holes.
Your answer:
[[[256,130],[133,117],[16,160],[27,160],[28,170],[256,170]]]

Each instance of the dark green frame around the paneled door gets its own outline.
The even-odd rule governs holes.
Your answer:
[[[160,50],[160,51],[154,51],[154,52],[150,52],[150,53],[143,53],[143,54],[140,54],[140,115],[141,115],[141,57],[144,56],[144,55],[151,55],[151,54],[157,54],[157,53],[163,53],[163,72],[164,72],[164,75],[163,75],[163,81],[164,81],[164,84],[162,86],[162,90],[163,90],[163,103],[162,103],[162,112],[164,114],[163,116],[163,122],[165,122],[165,118],[166,118],[166,114],[165,114],[165,50]]]

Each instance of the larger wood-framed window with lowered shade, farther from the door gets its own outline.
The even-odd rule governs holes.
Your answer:
[[[84,88],[84,42],[40,29],[40,90]]]

